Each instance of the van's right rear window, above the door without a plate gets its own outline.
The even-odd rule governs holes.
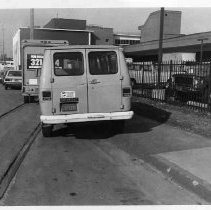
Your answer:
[[[118,72],[117,55],[113,51],[95,51],[89,53],[89,71],[92,75],[116,74]]]

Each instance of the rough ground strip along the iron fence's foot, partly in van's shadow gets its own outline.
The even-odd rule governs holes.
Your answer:
[[[184,131],[211,138],[211,115],[204,112],[193,112],[191,109],[180,110],[173,105],[162,104],[141,98],[132,101],[132,109],[140,116],[178,127]],[[162,107],[163,106],[163,107]],[[165,107],[168,106],[166,109]],[[200,121],[200,124],[199,124]]]

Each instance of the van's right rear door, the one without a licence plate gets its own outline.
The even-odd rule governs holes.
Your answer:
[[[88,112],[121,111],[122,80],[117,50],[87,49]]]

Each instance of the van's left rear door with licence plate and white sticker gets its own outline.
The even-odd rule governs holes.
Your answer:
[[[87,78],[84,49],[52,51],[54,114],[87,113]]]

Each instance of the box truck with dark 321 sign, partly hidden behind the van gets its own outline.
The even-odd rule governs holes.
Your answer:
[[[20,43],[20,63],[18,70],[22,71],[22,96],[24,103],[30,103],[38,98],[39,77],[43,64],[43,54],[47,47],[68,44],[62,40],[22,40]],[[14,57],[17,64],[17,58]],[[21,68],[20,68],[21,66]],[[17,69],[17,66],[15,66]]]

